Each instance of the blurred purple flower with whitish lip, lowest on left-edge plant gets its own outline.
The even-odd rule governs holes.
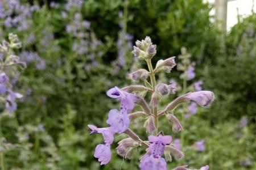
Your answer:
[[[15,99],[16,98],[21,98],[23,97],[22,94],[16,93],[16,92],[9,92],[7,99],[6,99],[6,103],[5,103],[5,108],[7,111],[9,112],[14,112],[17,109],[17,104]]]

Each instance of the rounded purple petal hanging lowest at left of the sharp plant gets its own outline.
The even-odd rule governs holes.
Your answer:
[[[108,164],[112,157],[110,146],[103,144],[97,145],[95,148],[94,157],[98,158],[98,162],[100,162],[101,165]]]

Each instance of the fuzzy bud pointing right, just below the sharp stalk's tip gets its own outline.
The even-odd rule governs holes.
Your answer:
[[[158,73],[158,72],[164,72],[164,73],[170,73],[172,68],[174,66],[176,66],[175,63],[175,57],[170,57],[167,59],[160,59],[157,63],[156,63],[156,67],[154,70],[154,73]]]

